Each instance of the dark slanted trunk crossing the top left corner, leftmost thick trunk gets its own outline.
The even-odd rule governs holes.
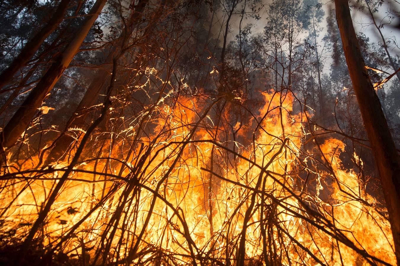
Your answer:
[[[71,0],[61,0],[60,5],[47,24],[28,42],[21,50],[20,54],[14,59],[9,67],[7,67],[0,75],[0,88],[14,77],[19,69],[24,67],[32,58],[36,51],[40,48],[44,40],[52,33],[64,19],[64,14]]]

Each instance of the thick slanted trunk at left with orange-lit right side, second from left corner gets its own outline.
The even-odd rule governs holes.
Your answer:
[[[64,52],[55,60],[39,83],[32,89],[24,103],[18,108],[14,116],[4,127],[0,138],[2,147],[8,148],[16,143],[20,135],[24,132],[38,108],[40,108],[44,98],[60,79],[64,70],[68,67],[72,58],[78,53],[79,48],[88,34],[93,23],[104,7],[107,0],[97,0],[86,17],[84,22],[76,31],[74,38],[68,44]]]

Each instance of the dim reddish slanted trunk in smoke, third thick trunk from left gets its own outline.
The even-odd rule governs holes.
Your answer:
[[[74,141],[74,138],[71,137],[70,135],[66,134],[65,132],[68,130],[68,128],[71,127],[83,127],[86,121],[86,117],[88,115],[88,112],[86,111],[87,108],[91,107],[94,105],[95,101],[97,100],[98,95],[100,94],[100,91],[104,88],[104,84],[106,84],[106,81],[110,77],[110,72],[112,72],[112,61],[114,58],[114,55],[116,54],[117,50],[121,50],[124,48],[125,45],[125,35],[128,32],[128,35],[132,34],[134,25],[137,24],[137,22],[142,18],[142,14],[144,11],[144,8],[148,4],[148,0],[140,0],[139,3],[136,5],[135,10],[132,14],[132,17],[129,22],[129,28],[127,31],[123,31],[121,36],[116,40],[116,44],[114,44],[111,47],[108,47],[110,50],[110,53],[108,54],[104,64],[105,67],[101,68],[97,71],[96,76],[94,77],[93,81],[90,83],[88,89],[86,90],[86,93],[84,94],[82,100],[80,101],[78,107],[76,107],[76,110],[72,114],[72,117],[70,117],[69,121],[66,124],[66,127],[64,129],[64,132],[62,135],[60,135],[52,144],[52,147],[50,147],[50,154],[48,155],[45,165],[48,165],[52,162],[58,161],[60,158],[62,158],[66,152],[70,149],[71,143]],[[157,15],[161,15],[161,11],[163,10],[163,6],[165,5],[165,0],[163,0],[160,3],[160,7],[158,8]],[[148,30],[151,30],[152,27],[148,27]]]

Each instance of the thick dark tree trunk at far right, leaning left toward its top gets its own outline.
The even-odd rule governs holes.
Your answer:
[[[336,19],[342,38],[344,55],[388,208],[397,264],[400,265],[400,163],[396,147],[374,87],[364,67],[348,0],[335,0]]]

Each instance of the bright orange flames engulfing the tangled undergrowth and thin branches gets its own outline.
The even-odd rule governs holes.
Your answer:
[[[38,264],[393,264],[386,210],[342,165],[344,143],[315,137],[290,91],[262,95],[257,115],[226,96],[110,107],[84,156],[10,160],[2,250]]]

